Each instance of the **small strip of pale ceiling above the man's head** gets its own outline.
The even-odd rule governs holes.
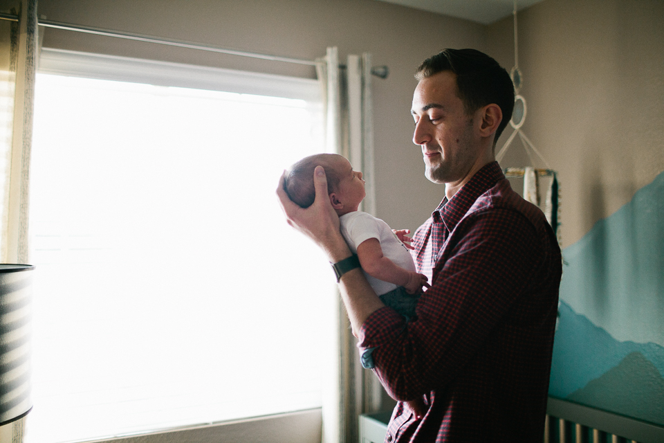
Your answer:
[[[459,19],[492,24],[513,14],[513,0],[378,0],[421,9]],[[542,0],[519,0],[517,10],[540,3]]]

